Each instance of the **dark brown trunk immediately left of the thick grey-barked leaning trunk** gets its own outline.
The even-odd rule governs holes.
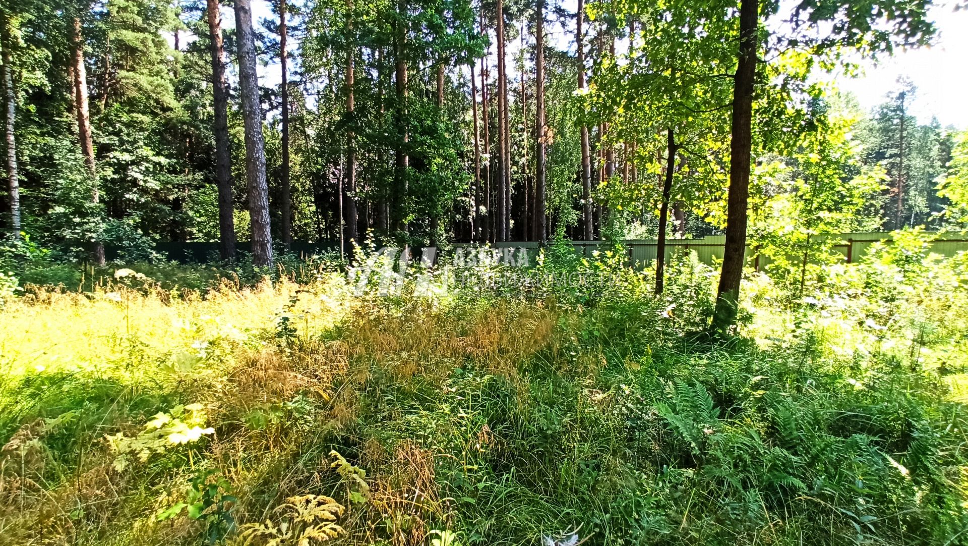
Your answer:
[[[215,106],[215,183],[219,190],[219,253],[235,259],[235,221],[232,217],[232,169],[228,153],[228,83],[222,40],[219,0],[207,0],[208,36],[212,53],[213,105]]]

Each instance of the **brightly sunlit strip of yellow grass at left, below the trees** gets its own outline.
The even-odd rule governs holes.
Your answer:
[[[118,285],[91,293],[36,290],[0,312],[0,355],[8,379],[39,371],[104,376],[177,372],[218,341],[251,343],[254,332],[289,318],[297,335],[332,327],[350,306],[333,276],[307,289],[283,281],[172,297]],[[154,366],[134,366],[140,359]]]

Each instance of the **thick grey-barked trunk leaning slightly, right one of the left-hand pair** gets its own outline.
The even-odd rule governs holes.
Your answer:
[[[265,181],[265,140],[262,111],[258,103],[256,38],[252,28],[251,0],[235,0],[235,33],[238,41],[239,95],[245,120],[245,163],[252,221],[252,257],[256,265],[272,264],[272,233],[269,227],[269,188]]]

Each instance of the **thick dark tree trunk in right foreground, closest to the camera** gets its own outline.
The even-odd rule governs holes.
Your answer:
[[[736,322],[740,306],[742,262],[746,252],[746,206],[752,152],[753,86],[756,78],[759,0],[741,0],[740,52],[733,77],[729,195],[726,201],[726,245],[716,295],[712,328],[723,332]]]

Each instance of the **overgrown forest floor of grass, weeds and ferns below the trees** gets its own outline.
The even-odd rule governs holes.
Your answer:
[[[968,544],[962,262],[750,275],[725,341],[688,259],[594,298],[130,267],[3,300],[0,544]]]

